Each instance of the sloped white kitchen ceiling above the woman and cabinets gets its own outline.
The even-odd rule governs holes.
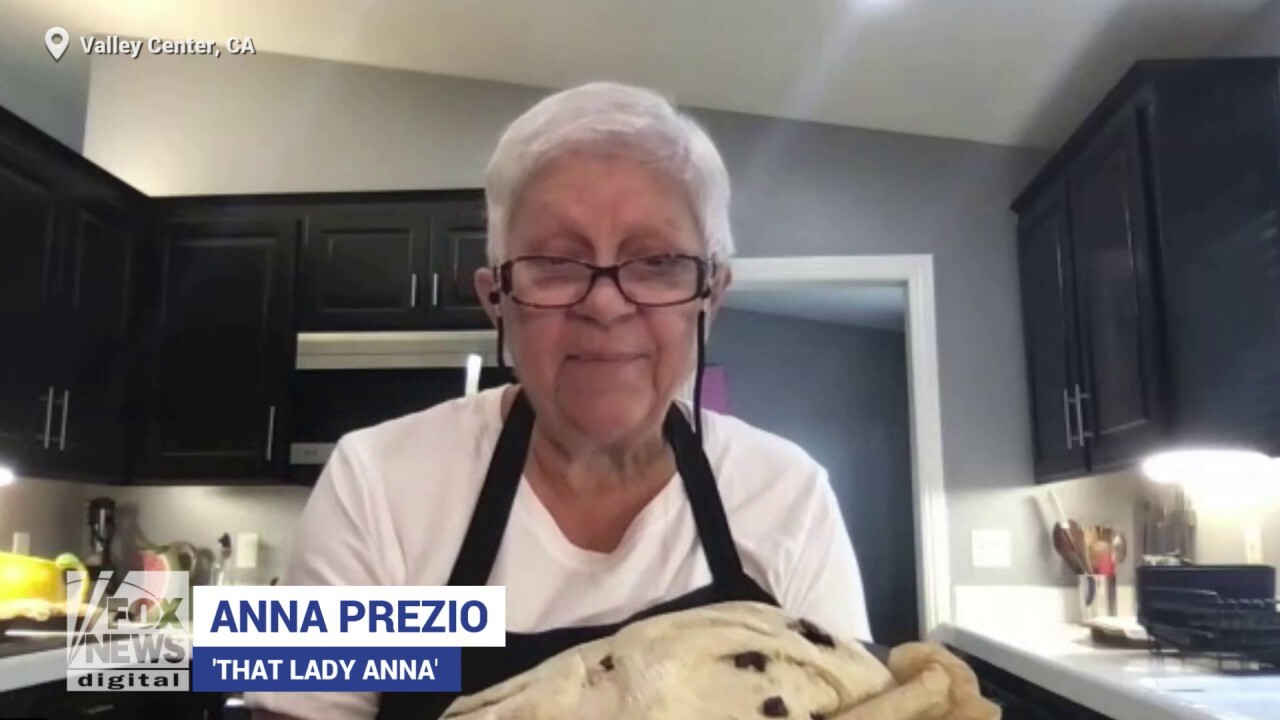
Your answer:
[[[73,35],[220,44],[247,35],[266,53],[539,87],[611,78],[694,106],[1052,146],[1133,60],[1206,54],[1265,3],[0,0],[0,8],[37,13]]]

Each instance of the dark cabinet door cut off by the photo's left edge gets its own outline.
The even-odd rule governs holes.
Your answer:
[[[58,283],[52,190],[0,161],[0,465],[22,471],[49,445],[56,378],[47,366]]]

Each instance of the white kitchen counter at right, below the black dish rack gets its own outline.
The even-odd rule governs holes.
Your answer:
[[[1079,625],[942,625],[931,639],[1114,720],[1280,717],[1280,673],[1217,673],[1208,661],[1096,646],[1088,628]]]

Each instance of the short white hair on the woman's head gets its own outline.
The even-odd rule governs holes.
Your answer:
[[[570,150],[639,154],[685,186],[709,255],[733,255],[730,181],[707,131],[662,95],[593,82],[550,95],[517,118],[498,141],[485,173],[489,261],[507,255],[511,210],[530,177]]]

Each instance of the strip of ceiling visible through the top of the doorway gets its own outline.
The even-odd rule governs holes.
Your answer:
[[[901,286],[842,284],[730,291],[724,305],[768,315],[840,323],[878,331],[906,328],[906,291]]]

